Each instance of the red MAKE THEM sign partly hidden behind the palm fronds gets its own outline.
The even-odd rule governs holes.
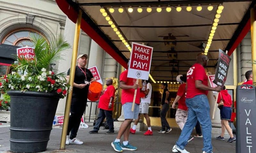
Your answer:
[[[17,56],[19,58],[24,58],[29,61],[33,60],[35,58],[34,48],[29,46],[17,48]]]

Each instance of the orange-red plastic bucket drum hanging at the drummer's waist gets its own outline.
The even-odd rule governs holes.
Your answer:
[[[102,85],[99,82],[92,82],[89,86],[87,98],[91,101],[97,101],[100,98]]]

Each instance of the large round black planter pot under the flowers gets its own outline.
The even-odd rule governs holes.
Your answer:
[[[53,93],[8,91],[13,152],[45,151],[60,97]]]

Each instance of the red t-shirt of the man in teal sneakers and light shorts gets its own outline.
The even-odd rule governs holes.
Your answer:
[[[120,82],[124,81],[126,85],[133,85],[136,83],[137,79],[127,77],[128,70],[125,70],[120,75]],[[133,102],[135,89],[122,89],[121,103],[124,105],[125,103]],[[137,89],[137,94],[135,98],[135,103],[140,105],[140,89]]]

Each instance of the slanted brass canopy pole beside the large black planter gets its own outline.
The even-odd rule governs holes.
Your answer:
[[[81,19],[82,19],[82,10],[79,10],[77,21],[76,21],[76,29],[75,29],[72,60],[71,60],[69,83],[68,83],[72,87],[72,90],[70,93],[68,93],[67,100],[66,100],[64,122],[63,122],[63,128],[62,128],[62,134],[61,134],[61,140],[60,140],[60,150],[65,149],[65,145],[66,145],[66,136],[67,136],[67,131],[68,131],[68,119],[69,119],[69,111],[70,111],[70,106],[71,106],[71,98],[72,98],[73,84],[74,84],[74,78],[75,78],[76,57],[77,57]]]

